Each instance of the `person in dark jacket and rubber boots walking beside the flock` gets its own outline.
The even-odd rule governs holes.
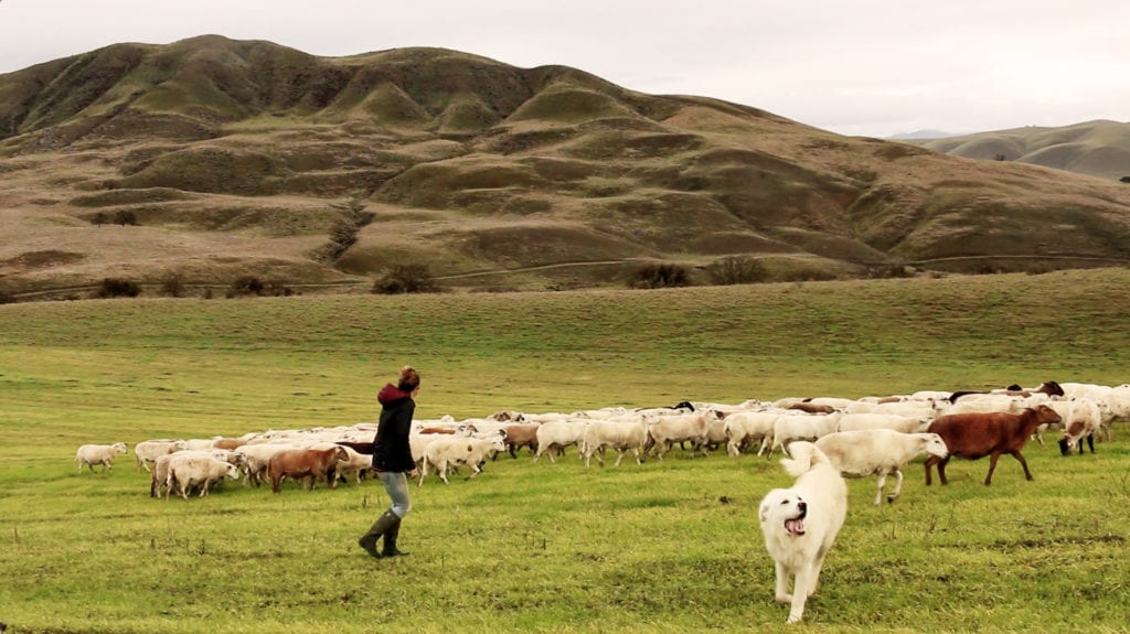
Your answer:
[[[400,522],[412,508],[408,495],[408,478],[416,475],[408,434],[416,412],[415,397],[419,394],[420,376],[410,366],[400,370],[397,385],[385,384],[376,396],[381,404],[381,420],[373,441],[373,470],[384,483],[384,490],[392,500],[392,507],[376,519],[368,532],[357,540],[366,553],[374,557],[392,557],[408,553],[397,548]],[[377,551],[376,543],[384,538]]]

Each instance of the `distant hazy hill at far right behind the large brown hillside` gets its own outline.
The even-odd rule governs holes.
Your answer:
[[[1130,123],[1090,121],[1063,127],[1017,127],[919,143],[948,155],[1028,162],[1118,180],[1130,176]]]

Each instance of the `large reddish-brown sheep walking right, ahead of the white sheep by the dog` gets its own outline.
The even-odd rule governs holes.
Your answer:
[[[971,460],[990,456],[989,475],[985,476],[988,486],[992,484],[992,473],[997,469],[997,459],[1001,454],[1016,458],[1024,467],[1024,477],[1031,481],[1032,472],[1028,470],[1028,463],[1020,454],[1020,449],[1037,426],[1044,423],[1058,423],[1061,420],[1060,415],[1046,405],[1028,407],[1019,414],[977,412],[936,419],[927,431],[937,433],[946,441],[949,456],[945,458],[930,456],[925,459],[925,484],[927,486],[931,484],[930,469],[933,465],[938,465],[941,484],[949,484],[946,479],[946,464],[954,456]]]

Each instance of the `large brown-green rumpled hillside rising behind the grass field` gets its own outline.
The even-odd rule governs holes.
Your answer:
[[[367,289],[395,264],[524,290],[738,254],[777,279],[1130,257],[1116,182],[441,49],[203,36],[2,74],[0,175],[9,296],[106,276]]]

